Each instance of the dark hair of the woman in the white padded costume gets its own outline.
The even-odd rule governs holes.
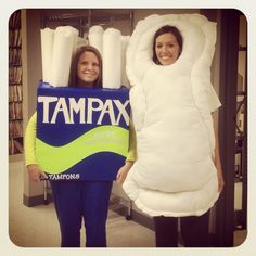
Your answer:
[[[180,53],[182,52],[182,44],[183,44],[183,39],[182,39],[182,36],[179,31],[179,29],[175,26],[169,26],[169,25],[166,25],[164,27],[161,27],[158,30],[156,30],[155,35],[154,35],[154,39],[153,39],[153,62],[157,65],[162,65],[156,56],[156,53],[155,53],[155,43],[156,43],[156,38],[163,34],[166,34],[166,33],[170,33],[172,34],[175,37],[176,37],[176,40],[180,47]]]

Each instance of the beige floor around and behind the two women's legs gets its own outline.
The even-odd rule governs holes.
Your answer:
[[[22,247],[59,247],[60,232],[53,204],[26,207],[22,203],[22,163],[10,165],[9,233],[12,242]],[[108,247],[154,247],[154,232],[110,210],[107,219]],[[246,231],[238,231],[234,246],[244,241]],[[85,230],[81,230],[81,246]]]

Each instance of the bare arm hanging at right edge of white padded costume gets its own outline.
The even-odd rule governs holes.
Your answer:
[[[217,177],[218,177],[218,191],[221,192],[225,185],[225,181],[223,181],[223,175],[222,175],[222,166],[221,166],[221,162],[220,162],[220,156],[219,156],[219,139],[218,139],[218,132],[215,126],[215,121],[214,121],[214,116],[213,117],[213,123],[214,123],[214,129],[215,129],[215,158],[214,158],[214,163],[215,163],[215,167],[217,169]]]

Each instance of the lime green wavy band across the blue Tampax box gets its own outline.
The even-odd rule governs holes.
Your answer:
[[[46,172],[61,174],[99,152],[127,156],[128,143],[127,129],[118,126],[99,126],[62,146],[52,146],[36,138],[36,158]]]

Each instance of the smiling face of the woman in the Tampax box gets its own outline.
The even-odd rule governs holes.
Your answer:
[[[78,87],[93,88],[99,74],[100,63],[97,55],[90,51],[84,52],[77,64]]]

